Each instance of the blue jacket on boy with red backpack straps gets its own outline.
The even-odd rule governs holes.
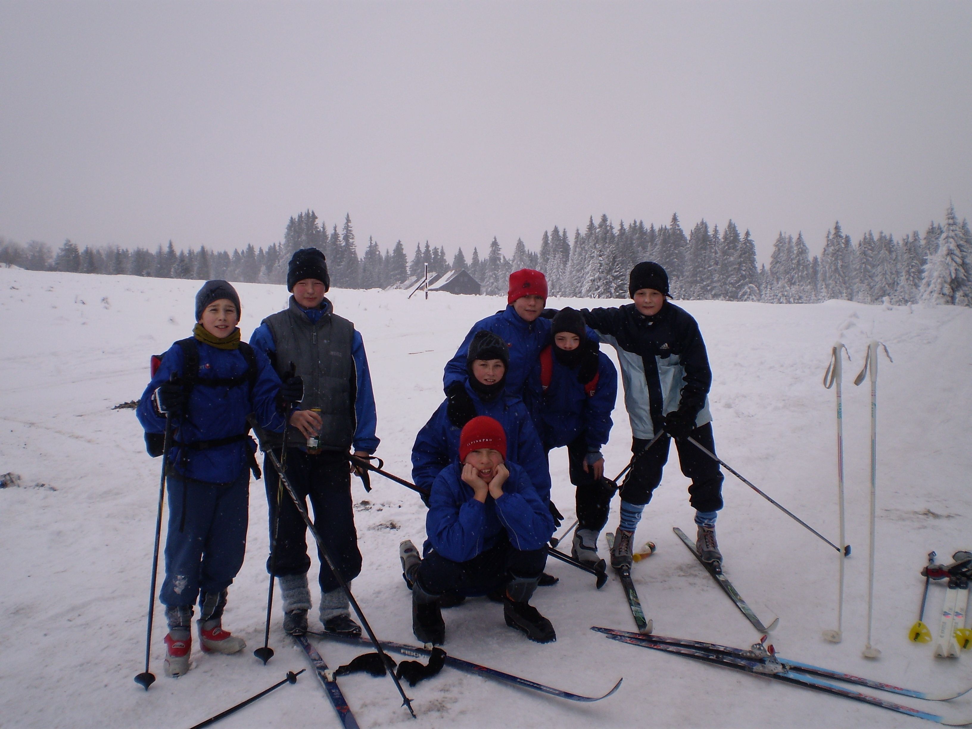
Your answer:
[[[556,346],[556,345],[554,345]],[[617,369],[603,352],[598,353],[598,384],[588,396],[577,381],[580,365],[561,364],[551,353],[550,385],[543,391],[538,431],[546,450],[573,442],[583,433],[589,451],[599,451],[608,442],[610,414],[617,399]]]

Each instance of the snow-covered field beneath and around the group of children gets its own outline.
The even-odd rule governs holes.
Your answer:
[[[149,377],[149,357],[190,335],[199,282],[0,269],[0,473],[19,487],[0,491],[0,725],[3,727],[181,727],[223,711],[279,680],[305,660],[275,611],[263,667],[266,505],[252,486],[247,560],[230,588],[226,627],[249,643],[234,656],[194,652],[196,667],[164,677],[163,621],[156,619],[149,692],[143,669],[145,612],[155,528],[159,461],[150,459],[131,410]],[[241,327],[286,304],[281,286],[238,285]],[[504,305],[499,297],[333,291],[337,313],[364,335],[378,405],[378,455],[410,474],[414,435],[442,399],[442,366],[469,326]],[[551,299],[550,305],[581,303]],[[623,302],[583,302],[606,305]],[[844,642],[820,637],[837,622],[836,552],[730,474],[718,521],[726,573],[765,621],[780,617],[773,642],[785,657],[915,688],[972,685],[972,651],[935,659],[912,643],[929,550],[943,558],[972,548],[972,310],[867,306],[846,301],[780,305],[688,301],[712,360],[712,412],[721,457],[757,486],[837,540],[834,394],[821,377],[836,339],[851,351],[844,403],[848,485]],[[878,553],[874,644],[866,661],[869,390],[851,380],[867,341],[887,344],[879,379]],[[611,356],[613,354],[611,353]],[[613,475],[628,461],[630,431],[618,400],[605,448]],[[566,451],[552,454],[553,498],[573,519]],[[672,533],[690,531],[686,479],[670,468],[645,510],[637,543],[658,551],[634,569],[655,632],[746,646],[758,636]],[[43,484],[34,486],[34,484]],[[356,595],[378,635],[415,642],[410,593],[398,544],[420,543],[425,510],[417,496],[372,475],[355,479],[364,573]],[[608,529],[617,523],[617,505]],[[602,551],[605,553],[604,538]],[[341,679],[363,727],[911,727],[921,721],[780,682],[610,642],[592,625],[633,630],[613,575],[603,590],[550,561],[560,584],[540,588],[539,610],[558,641],[528,642],[505,627],[502,608],[470,600],[443,612],[446,650],[459,657],[580,693],[620,690],[591,705],[541,696],[449,668],[408,693],[413,722],[390,680]],[[937,629],[945,590],[933,584],[926,622]],[[156,611],[156,618],[160,618]],[[312,612],[312,624],[316,614]],[[360,652],[321,644],[336,667]],[[972,698],[949,705],[901,703],[972,719]],[[220,726],[337,727],[317,680],[304,674]]]

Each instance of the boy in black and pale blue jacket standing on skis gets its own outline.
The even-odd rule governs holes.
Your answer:
[[[696,547],[705,562],[719,566],[715,517],[722,508],[722,473],[718,464],[690,443],[691,436],[713,453],[708,394],[712,370],[695,319],[670,303],[668,274],[658,263],[642,261],[629,277],[632,304],[582,309],[587,326],[617,351],[624,373],[624,400],[634,435],[634,463],[621,487],[621,523],[611,566],[632,563],[635,529],[644,504],[661,482],[674,437],[681,472],[692,479],[689,503],[695,507]],[[650,450],[645,448],[662,433]]]

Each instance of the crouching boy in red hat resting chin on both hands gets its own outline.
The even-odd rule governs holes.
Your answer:
[[[425,559],[415,555],[406,565],[416,638],[445,641],[444,593],[503,590],[506,625],[532,641],[557,640],[550,621],[529,602],[553,520],[526,471],[506,461],[506,434],[493,418],[480,415],[463,428],[459,458],[435,477],[426,533]]]

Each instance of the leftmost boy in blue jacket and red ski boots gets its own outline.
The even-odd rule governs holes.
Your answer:
[[[236,653],[246,642],[223,630],[226,588],[243,565],[250,502],[250,471],[260,478],[247,416],[282,431],[278,412],[300,382],[284,393],[262,353],[240,341],[240,300],[226,281],[207,281],[195,296],[197,324],[162,358],[139,401],[137,415],[149,453],[161,455],[166,417],[172,421],[166,489],[165,673],[190,670],[191,619],[199,599],[199,642],[204,651]],[[175,375],[175,378],[172,376]]]

